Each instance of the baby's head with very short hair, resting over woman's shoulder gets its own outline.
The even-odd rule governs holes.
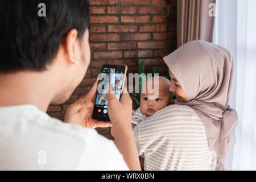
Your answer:
[[[170,80],[161,76],[148,78],[144,82],[141,92],[141,112],[143,114],[151,116],[170,104],[173,96],[169,90],[170,84]]]

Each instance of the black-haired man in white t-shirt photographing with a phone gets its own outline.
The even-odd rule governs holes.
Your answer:
[[[111,123],[92,119],[97,82],[64,123],[46,114],[86,73],[88,26],[86,0],[0,0],[0,170],[140,169],[128,93],[107,94]],[[92,130],[109,126],[114,142]]]

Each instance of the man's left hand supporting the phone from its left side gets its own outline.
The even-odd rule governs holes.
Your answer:
[[[98,81],[86,96],[70,105],[65,113],[64,122],[95,129],[96,127],[111,127],[112,123],[97,121],[92,118],[93,102],[97,93]]]

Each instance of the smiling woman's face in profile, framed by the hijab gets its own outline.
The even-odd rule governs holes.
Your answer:
[[[172,72],[170,70],[169,70],[169,75],[171,77],[171,86],[170,86],[169,90],[171,92],[175,93],[175,97],[177,98],[178,101],[188,102],[188,98],[185,95],[185,93],[183,92],[183,89],[181,88],[179,81],[174,76],[174,74],[172,74]]]

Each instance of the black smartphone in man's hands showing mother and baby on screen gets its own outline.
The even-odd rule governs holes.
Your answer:
[[[104,64],[98,77],[96,100],[93,109],[93,119],[110,121],[108,115],[108,101],[104,99],[108,90],[111,89],[120,100],[123,85],[125,84],[127,65]]]

